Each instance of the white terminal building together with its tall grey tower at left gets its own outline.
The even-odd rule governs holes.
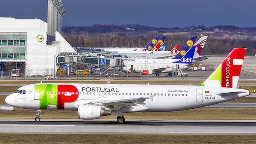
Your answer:
[[[61,35],[63,15],[62,1],[48,0],[48,22],[0,17],[0,69],[5,70],[6,65],[15,68],[18,63],[23,64],[26,76],[53,75],[55,57],[61,52],[76,52]]]

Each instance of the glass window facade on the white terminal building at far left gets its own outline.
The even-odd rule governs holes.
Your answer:
[[[0,58],[25,59],[26,58],[26,33],[0,32]]]

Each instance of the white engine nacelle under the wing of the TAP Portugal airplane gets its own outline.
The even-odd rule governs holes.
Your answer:
[[[111,115],[111,110],[106,110],[104,107],[97,105],[79,105],[79,119],[99,119],[101,116]]]

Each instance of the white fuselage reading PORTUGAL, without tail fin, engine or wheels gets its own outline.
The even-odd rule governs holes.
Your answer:
[[[244,89],[176,85],[43,83],[22,86],[18,90],[22,92],[9,95],[6,103],[36,110],[77,110],[78,105],[93,102],[154,96],[152,101],[138,102],[139,107],[122,112],[187,110],[249,95]],[[218,95],[237,91],[244,93],[227,97]],[[112,111],[119,108],[114,106]]]

